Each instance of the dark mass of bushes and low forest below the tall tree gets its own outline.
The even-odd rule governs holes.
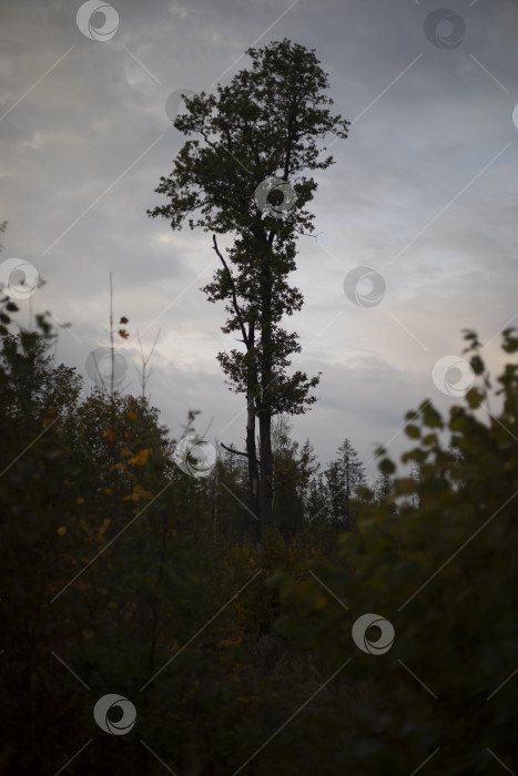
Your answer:
[[[0,305],[0,773],[518,770],[512,358],[491,413],[467,333],[477,385],[447,419],[409,412],[410,474],[378,450],[372,490],[348,440],[322,474],[281,417],[258,549],[242,457],[186,476],[158,409],[82,398],[49,321],[13,334]],[[385,654],[353,641],[366,613],[394,625]],[[93,719],[108,693],[128,735]]]

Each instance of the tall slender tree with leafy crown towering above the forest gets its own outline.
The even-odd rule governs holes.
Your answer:
[[[304,412],[318,382],[299,370],[288,374],[301,346],[281,326],[303,304],[288,275],[298,235],[313,231],[306,205],[317,184],[304,173],[333,163],[318,141],[328,133],[346,137],[349,122],[332,115],[328,78],[313,50],[285,39],[246,53],[252,67],[217,94],[185,99],[186,113],[174,125],[190,139],[155,190],[167,203],[149,214],[167,218],[173,229],[187,221],[213,233],[221,267],[204,292],[210,302],[226,303],[222,330],[238,333],[244,345],[219,360],[231,387],[246,396],[250,496],[261,538],[273,519],[272,418]],[[217,235],[232,237],[226,257]]]

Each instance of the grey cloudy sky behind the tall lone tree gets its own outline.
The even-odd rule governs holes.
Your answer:
[[[228,83],[248,47],[290,38],[316,50],[353,122],[318,176],[319,236],[299,243],[294,367],[323,374],[295,438],[323,461],[346,436],[365,462],[377,443],[397,456],[406,410],[456,400],[433,369],[461,357],[463,328],[498,369],[499,333],[518,315],[516,0],[114,0],[89,20],[93,6],[78,24],[79,0],[20,0],[0,29],[1,258],[45,282],[20,303],[22,323],[49,309],[72,324],[60,360],[85,374],[106,344],[112,272],[115,314],[130,319],[128,390],[139,391],[136,330],[149,349],[160,329],[149,392],[172,435],[197,409],[207,439],[242,446],[244,399],[215,360],[230,345],[223,306],[200,290],[216,267],[211,236],[145,212],[183,143],[169,95]],[[374,274],[352,300],[344,279],[358,266]]]

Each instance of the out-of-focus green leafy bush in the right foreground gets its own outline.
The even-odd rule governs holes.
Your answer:
[[[277,575],[278,632],[325,656],[329,676],[351,657],[333,680],[346,675],[347,695],[337,688],[321,711],[318,746],[336,773],[518,769],[518,364],[497,378],[501,410],[488,417],[479,410],[492,378],[476,334],[466,340],[477,384],[465,399],[447,419],[428,400],[406,416],[413,447],[402,462],[418,467],[418,479],[396,478],[392,496],[373,497],[337,558]],[[502,348],[518,353],[516,329],[504,331]],[[379,468],[396,470],[387,457]],[[308,568],[347,611],[303,578]],[[395,630],[385,652],[376,652],[376,624],[353,640],[367,612]]]

